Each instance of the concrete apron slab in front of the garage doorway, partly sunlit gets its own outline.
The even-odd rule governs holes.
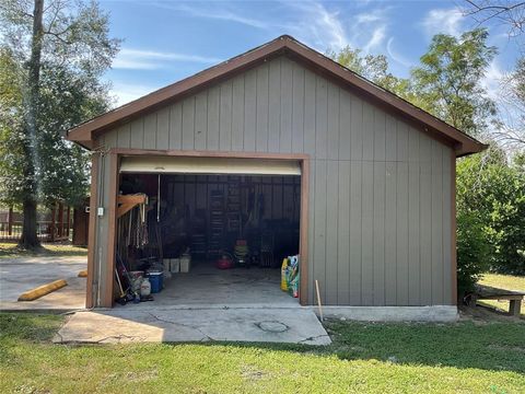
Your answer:
[[[303,308],[107,310],[77,312],[55,343],[248,341],[329,345],[316,315]]]

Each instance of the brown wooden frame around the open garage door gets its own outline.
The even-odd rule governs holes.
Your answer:
[[[101,305],[112,308],[114,304],[113,285],[115,273],[116,254],[116,227],[117,227],[117,194],[119,188],[119,161],[124,155],[163,155],[163,157],[187,157],[187,158],[240,158],[240,159],[275,159],[293,160],[301,164],[301,212],[300,212],[300,304],[308,303],[308,207],[310,207],[310,155],[299,153],[262,153],[262,152],[220,152],[220,151],[184,151],[184,150],[150,150],[150,149],[122,149],[112,148],[107,152],[109,158],[109,199],[108,199],[108,231],[107,231],[107,255],[105,269],[100,275],[105,276],[104,289],[101,289]],[[100,190],[98,190],[100,192]],[[92,201],[93,204],[93,201]],[[92,212],[94,209],[92,210]],[[93,244],[93,243],[92,243]],[[94,260],[94,252],[91,251],[91,260]],[[93,263],[89,268],[93,268]],[[93,273],[89,273],[93,278]],[[93,305],[92,289],[86,289],[86,303]]]

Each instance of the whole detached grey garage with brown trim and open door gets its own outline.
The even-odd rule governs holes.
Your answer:
[[[68,139],[93,152],[89,308],[155,266],[166,305],[310,305],[317,282],[327,305],[455,308],[455,161],[485,146],[290,36]]]

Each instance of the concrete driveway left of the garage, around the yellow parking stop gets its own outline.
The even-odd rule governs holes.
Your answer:
[[[0,259],[0,310],[60,310],[71,311],[85,306],[85,278],[79,271],[85,269],[85,256],[42,256]],[[35,301],[16,301],[24,291],[66,279],[68,286]]]

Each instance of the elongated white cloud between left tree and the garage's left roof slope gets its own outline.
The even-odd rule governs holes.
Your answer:
[[[203,57],[198,55],[186,55],[176,53],[162,53],[153,50],[142,50],[132,48],[122,48],[115,60],[113,68],[115,69],[136,69],[136,70],[156,70],[165,68],[170,62],[198,62],[212,65],[220,62],[221,59],[213,57]]]

